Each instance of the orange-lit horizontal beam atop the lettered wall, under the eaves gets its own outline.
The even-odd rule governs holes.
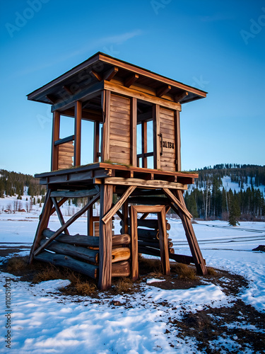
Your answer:
[[[114,84],[114,82],[104,81],[104,89],[110,90],[115,93],[121,93],[122,95],[134,97],[142,101],[147,101],[148,103],[155,103],[165,108],[176,109],[176,110],[182,109],[180,103],[175,103],[174,101],[168,101],[163,98],[152,96],[149,95],[148,93],[144,93],[136,89],[131,89],[126,86]]]

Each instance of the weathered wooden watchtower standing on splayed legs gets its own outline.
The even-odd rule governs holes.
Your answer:
[[[30,262],[36,258],[69,266],[98,278],[101,289],[110,287],[114,276],[137,279],[139,251],[160,256],[165,274],[170,273],[172,258],[194,263],[198,273],[205,275],[192,215],[182,195],[198,176],[181,172],[179,130],[182,104],[204,97],[204,91],[101,52],[30,93],[29,100],[52,105],[53,113],[52,171],[36,175],[47,186],[47,195]],[[74,120],[68,137],[60,134],[62,116]],[[93,160],[81,166],[81,144],[86,141],[81,126],[86,120],[93,122]],[[64,222],[60,206],[69,198],[88,199]],[[96,217],[93,205],[98,200]],[[170,208],[182,219],[192,256],[177,255],[169,247],[165,214]],[[61,222],[55,232],[47,229],[54,212]],[[70,235],[69,226],[85,212],[87,234]],[[148,221],[149,213],[158,219]],[[122,224],[118,235],[112,232],[115,214]],[[99,222],[99,235],[95,222]],[[148,229],[146,233],[137,229],[148,224],[158,230],[157,237]]]

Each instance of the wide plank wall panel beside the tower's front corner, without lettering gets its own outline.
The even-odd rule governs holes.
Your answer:
[[[110,96],[110,161],[130,164],[130,98]]]

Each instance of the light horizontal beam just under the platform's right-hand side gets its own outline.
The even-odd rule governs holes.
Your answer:
[[[102,181],[98,178],[94,179],[95,184],[101,184]],[[128,186],[136,186],[141,188],[170,188],[170,189],[181,189],[187,190],[187,185],[183,185],[182,183],[175,182],[167,182],[161,180],[150,180],[146,181],[141,178],[122,178],[122,177],[107,177],[104,180],[105,184],[110,185],[128,185]]]

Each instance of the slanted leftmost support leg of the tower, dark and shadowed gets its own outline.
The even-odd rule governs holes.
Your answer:
[[[51,190],[48,189],[45,197],[45,202],[42,208],[42,214],[40,215],[40,222],[37,225],[37,231],[35,234],[35,239],[33,241],[33,246],[30,249],[30,258],[28,259],[28,263],[33,262],[33,253],[40,246],[40,240],[42,238],[42,232],[47,228],[49,223],[49,216],[51,215],[52,210],[52,198],[50,198]]]

